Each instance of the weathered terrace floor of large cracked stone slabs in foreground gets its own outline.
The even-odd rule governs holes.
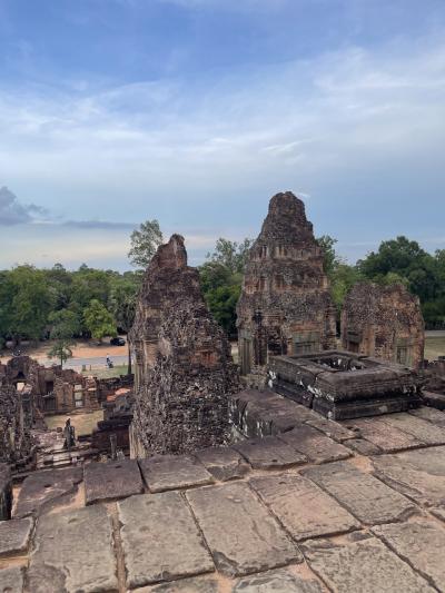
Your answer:
[[[445,591],[445,414],[340,425],[254,395],[233,447],[27,478],[0,593]]]

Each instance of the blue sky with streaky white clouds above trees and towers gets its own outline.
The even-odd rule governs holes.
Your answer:
[[[0,0],[0,268],[191,265],[291,190],[354,263],[445,248],[444,0]]]

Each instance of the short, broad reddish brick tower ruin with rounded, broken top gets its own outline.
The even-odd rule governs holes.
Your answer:
[[[418,298],[402,284],[355,285],[342,313],[342,346],[353,353],[421,368],[425,333]]]

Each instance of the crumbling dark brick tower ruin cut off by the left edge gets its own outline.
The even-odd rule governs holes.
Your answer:
[[[0,386],[0,463],[14,463],[30,454],[32,441],[21,394]]]

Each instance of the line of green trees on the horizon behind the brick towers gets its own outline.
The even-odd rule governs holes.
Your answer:
[[[87,265],[70,271],[61,264],[38,269],[20,265],[0,271],[0,348],[8,339],[55,340],[52,355],[61,362],[77,338],[101,340],[127,334],[132,325],[142,271],[162,234],[156,220],[147,221],[131,235],[130,260],[139,269],[119,274]],[[403,283],[422,303],[428,328],[445,327],[445,249],[425,251],[406,237],[383,241],[355,265],[335,250],[329,236],[318,239],[324,249],[325,270],[338,314],[347,291],[360,280]],[[215,250],[199,266],[206,303],[229,336],[236,335],[236,304],[251,239],[241,243],[217,240]]]

